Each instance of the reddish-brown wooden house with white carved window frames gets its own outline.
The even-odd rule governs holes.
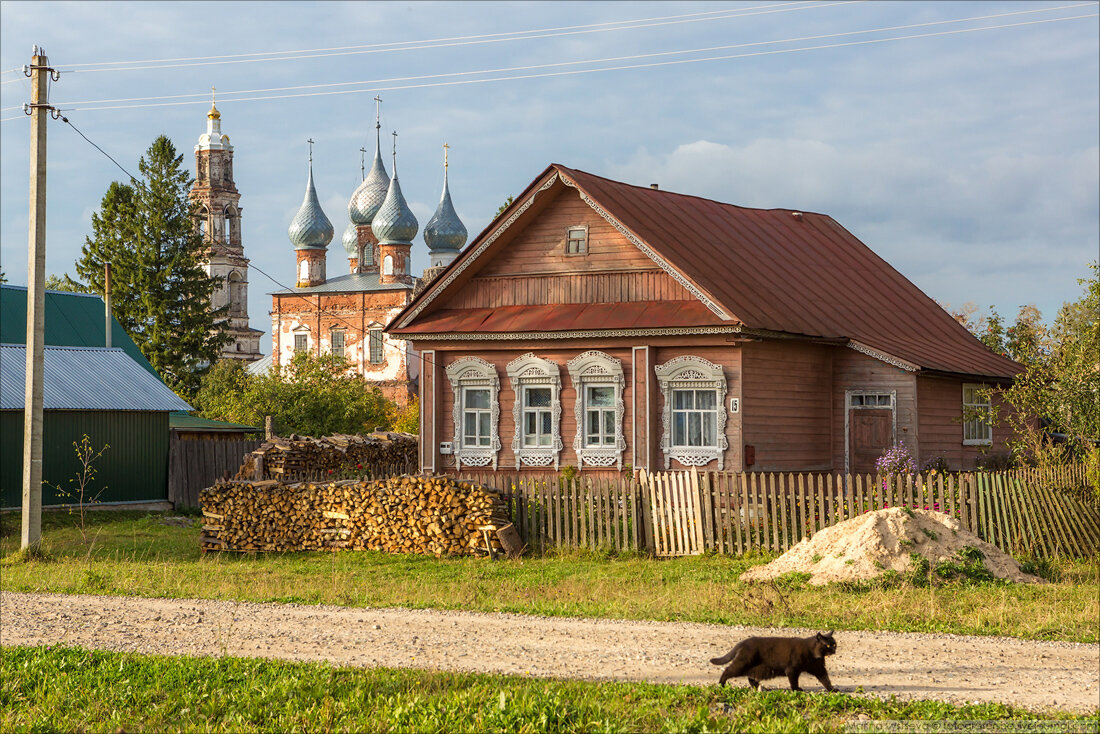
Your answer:
[[[873,471],[1003,449],[994,354],[827,215],[550,165],[389,325],[421,467]]]

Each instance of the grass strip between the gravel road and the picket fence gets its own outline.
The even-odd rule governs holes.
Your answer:
[[[43,514],[45,560],[18,560],[19,515],[0,516],[0,589],[59,593],[460,609],[718,624],[894,629],[1097,642],[1100,562],[1059,560],[1049,584],[744,584],[768,556],[653,560],[571,552],[491,562],[371,551],[209,554],[165,514]]]

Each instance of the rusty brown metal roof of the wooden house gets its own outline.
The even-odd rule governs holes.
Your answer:
[[[697,315],[700,320],[691,325],[740,321],[747,329],[849,339],[922,370],[991,377],[1010,377],[1022,370],[1016,362],[987,349],[932,298],[827,215],[749,209],[632,186],[559,164],[551,164],[516,197],[513,206],[466,248],[449,271],[472,258],[479,243],[497,229],[498,222],[554,173],[597,202],[736,319],[722,321],[704,306],[682,313],[672,319],[675,324],[662,326],[688,326],[685,320]],[[488,260],[492,253],[490,249],[481,256]],[[476,269],[474,265],[470,270]],[[448,311],[431,309],[406,328],[396,328],[420,302],[433,297],[443,281],[441,275],[435,287],[429,286],[398,315],[391,327],[394,333],[455,330],[440,327],[448,319],[459,319],[458,314],[443,318]],[[451,287],[461,285],[462,281],[455,281]],[[609,308],[598,310],[595,306]],[[513,318],[518,320],[505,321],[509,317],[504,314],[487,314],[476,330],[623,328],[606,325],[628,321],[634,314],[631,306],[636,304],[588,305],[576,313],[578,306],[516,307],[539,316],[528,319],[516,315]],[[508,309],[463,313],[475,319],[475,311],[482,310]],[[605,326],[580,326],[591,324],[596,314]],[[536,326],[513,328],[519,322]],[[640,322],[657,326],[648,316]],[[433,326],[427,328],[429,324]],[[458,330],[469,329],[471,321],[462,324]]]

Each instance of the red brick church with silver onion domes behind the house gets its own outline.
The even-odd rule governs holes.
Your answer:
[[[466,229],[451,201],[444,146],[443,190],[424,230],[431,266],[422,277],[413,274],[419,222],[402,194],[396,143],[393,178],[386,172],[381,129],[376,118],[374,161],[351,195],[341,237],[348,273],[334,277],[326,272],[334,229],[318,200],[310,154],[306,195],[287,230],[296,259],[295,285],[272,294],[271,361],[286,364],[301,351],[343,357],[387,399],[404,407],[418,392],[420,358],[411,344],[384,329],[422,283],[459,255]]]

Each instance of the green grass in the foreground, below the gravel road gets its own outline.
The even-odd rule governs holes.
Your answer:
[[[1034,719],[1053,720],[1060,731],[1097,726],[1094,716],[1038,715],[1001,704],[69,647],[0,650],[4,732],[829,732],[843,731],[849,720]]]

